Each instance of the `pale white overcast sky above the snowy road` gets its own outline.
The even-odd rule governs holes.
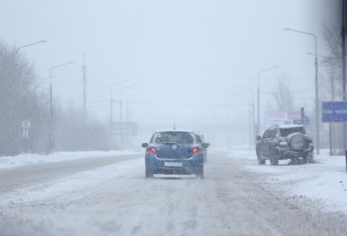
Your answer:
[[[247,106],[218,106],[252,100],[252,93],[238,86],[254,90],[256,99],[258,71],[275,65],[279,68],[261,73],[262,91],[272,91],[279,77],[293,91],[313,88],[314,57],[305,53],[314,53],[314,38],[282,29],[316,34],[318,54],[326,55],[321,23],[340,29],[335,22],[340,5],[339,0],[12,0],[2,1],[0,37],[18,47],[47,40],[20,50],[35,62],[40,78],[53,66],[75,62],[52,70],[53,94],[64,105],[73,101],[82,107],[85,53],[88,112],[101,120],[109,120],[110,85],[129,80],[114,87],[113,98],[119,100],[119,88],[136,84],[123,90],[123,100],[141,92],[129,97],[145,103],[131,105],[132,120],[140,124],[189,128],[226,124],[228,116],[232,126],[247,127]],[[303,104],[312,110],[314,89],[294,97],[297,110]],[[260,95],[261,125],[269,99]],[[114,119],[119,121],[119,112]]]

